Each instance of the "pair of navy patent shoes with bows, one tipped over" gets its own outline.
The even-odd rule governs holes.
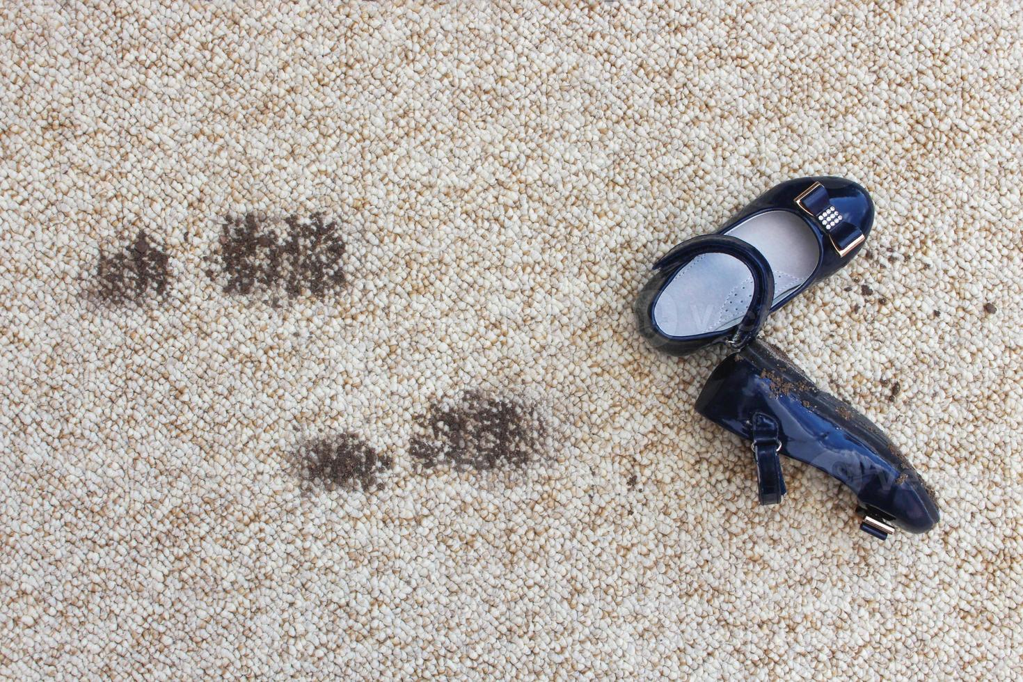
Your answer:
[[[736,350],[696,407],[752,443],[761,504],[777,504],[786,494],[784,454],[849,487],[860,529],[884,540],[895,527],[934,528],[933,492],[874,422],[757,340],[771,313],[856,257],[873,223],[874,202],[855,182],[783,182],[715,234],[683,241],[658,260],[635,311],[642,334],[666,353],[712,344]]]

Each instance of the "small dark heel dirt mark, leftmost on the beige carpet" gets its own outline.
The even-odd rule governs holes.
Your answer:
[[[113,254],[100,249],[96,292],[103,301],[117,305],[163,294],[167,290],[169,262],[164,249],[139,230],[127,246]]]

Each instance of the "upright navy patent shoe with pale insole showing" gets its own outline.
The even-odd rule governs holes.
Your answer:
[[[635,304],[639,329],[672,355],[714,343],[742,348],[767,315],[855,258],[873,224],[874,202],[851,180],[775,185],[716,234],[654,264]]]

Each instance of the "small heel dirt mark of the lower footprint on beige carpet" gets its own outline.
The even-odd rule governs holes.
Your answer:
[[[383,488],[380,476],[394,466],[356,434],[309,441],[295,453],[299,478],[306,490],[364,490]]]

